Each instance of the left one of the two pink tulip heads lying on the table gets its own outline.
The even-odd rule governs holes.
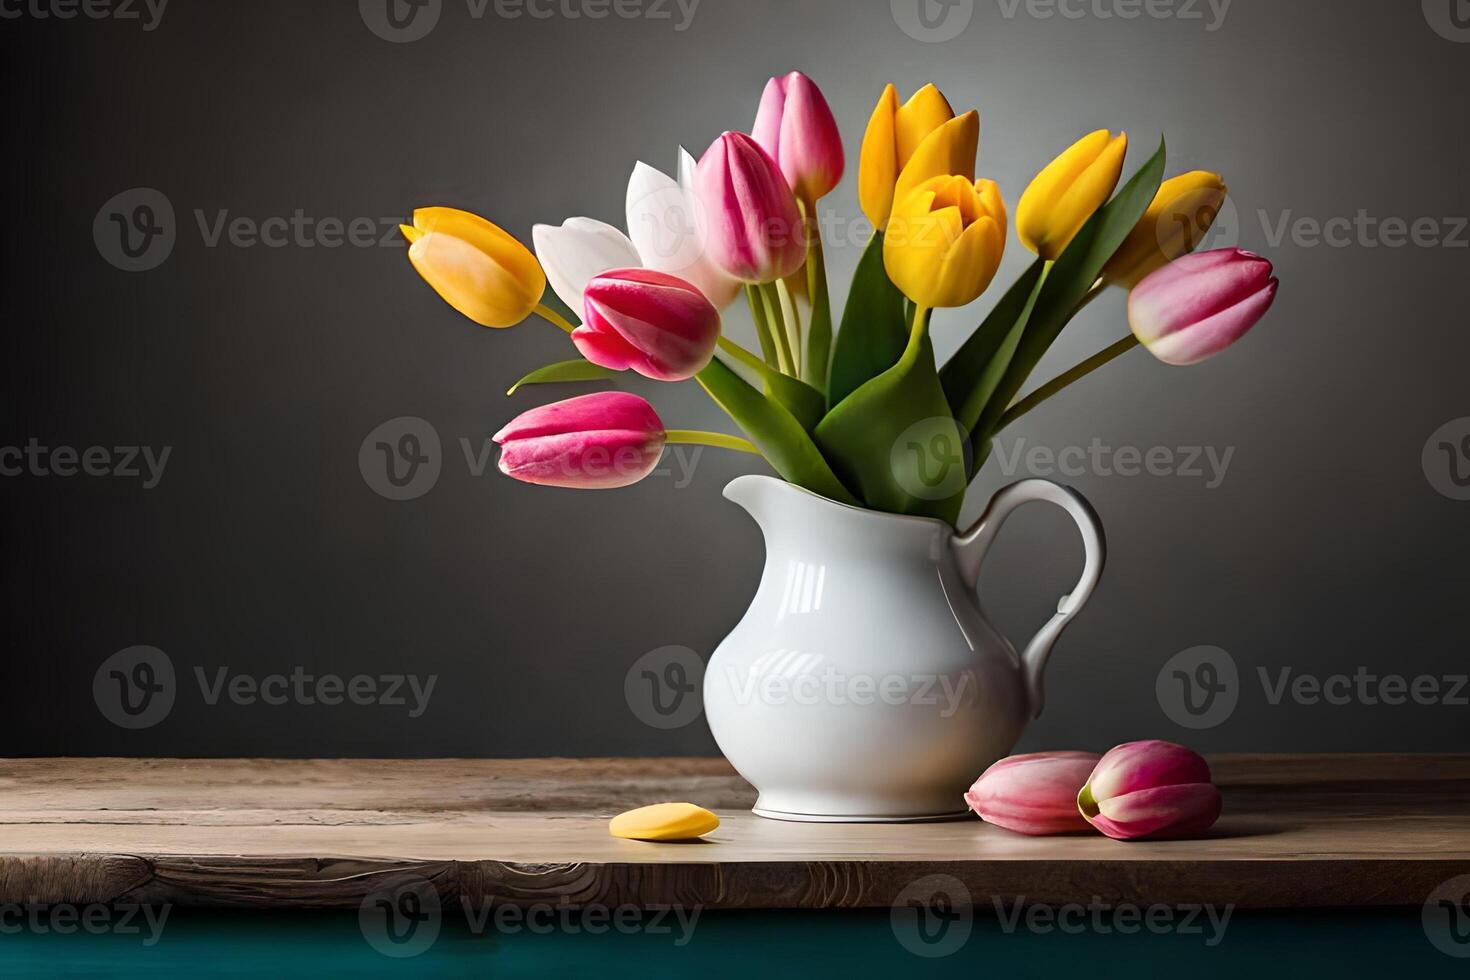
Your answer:
[[[1101,757],[1097,752],[1036,752],[1003,758],[980,774],[964,802],[997,827],[1045,836],[1086,830],[1078,792]]]

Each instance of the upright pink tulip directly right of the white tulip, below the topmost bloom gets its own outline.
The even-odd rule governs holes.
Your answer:
[[[770,154],[744,132],[716,140],[694,169],[707,251],[742,282],[775,282],[806,262],[801,209]]]

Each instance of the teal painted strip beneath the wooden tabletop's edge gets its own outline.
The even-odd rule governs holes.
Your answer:
[[[800,977],[1467,977],[1470,959],[1439,952],[1426,937],[1420,909],[1357,912],[1235,912],[1223,933],[1207,917],[1198,933],[1119,934],[1102,932],[1083,909],[1050,932],[1025,921],[1007,932],[994,912],[933,923],[931,939],[953,948],[938,958],[906,949],[923,943],[907,921],[897,929],[886,911],[704,912],[686,930],[623,918],[584,923],[560,912],[551,920],[475,930],[445,917],[423,952],[379,954],[359,917],[337,912],[204,912],[172,909],[156,940],[143,932],[59,934],[43,926],[0,920],[0,977],[662,977],[775,980]],[[686,917],[688,918],[688,917]],[[607,929],[601,934],[589,926]],[[550,932],[547,932],[550,929]],[[381,936],[378,937],[382,939]],[[956,942],[956,940],[960,942]],[[409,942],[415,942],[410,937]],[[1470,951],[1470,936],[1466,937]]]

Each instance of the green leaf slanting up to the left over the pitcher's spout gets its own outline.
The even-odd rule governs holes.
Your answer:
[[[751,388],[720,360],[710,361],[695,378],[782,479],[839,504],[857,504],[807,430],[779,401]]]

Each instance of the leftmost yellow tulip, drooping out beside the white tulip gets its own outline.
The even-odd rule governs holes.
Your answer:
[[[531,250],[479,215],[420,207],[400,225],[409,262],[445,303],[481,326],[514,326],[547,288]]]

